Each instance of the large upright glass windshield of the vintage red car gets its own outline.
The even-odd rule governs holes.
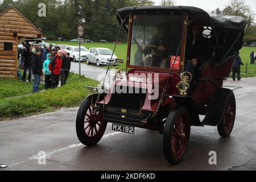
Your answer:
[[[171,68],[182,38],[183,21],[183,16],[175,15],[134,15],[130,65]],[[181,51],[177,60],[180,56]],[[177,64],[175,69],[180,69],[180,61]]]

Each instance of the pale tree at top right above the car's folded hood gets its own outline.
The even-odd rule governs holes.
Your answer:
[[[222,10],[222,15],[242,16],[247,19],[247,26],[251,26],[254,20],[254,14],[249,5],[243,0],[232,0],[230,4]]]

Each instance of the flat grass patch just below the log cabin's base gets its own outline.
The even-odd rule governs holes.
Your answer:
[[[20,80],[0,78],[0,100],[3,98],[23,96],[32,93],[32,88],[32,82],[22,82]],[[39,89],[44,89],[44,86],[40,85]]]

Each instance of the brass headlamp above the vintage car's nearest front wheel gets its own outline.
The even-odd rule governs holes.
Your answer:
[[[189,83],[192,81],[192,74],[189,72],[184,72],[181,75],[181,81],[179,84],[177,84],[176,88],[180,91],[180,94],[182,96],[187,96],[188,95],[188,90],[189,90]]]

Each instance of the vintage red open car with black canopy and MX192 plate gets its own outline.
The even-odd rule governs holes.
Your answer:
[[[187,6],[125,7],[117,18],[128,33],[126,75],[117,68],[108,92],[102,86],[82,102],[76,120],[81,143],[97,144],[108,122],[125,133],[134,134],[135,127],[156,130],[163,134],[165,158],[177,164],[187,151],[191,126],[217,126],[221,137],[229,137],[236,99],[223,82],[242,48],[246,19]],[[195,22],[203,27],[200,36],[210,57],[192,74],[185,65],[191,61],[187,50]],[[159,30],[166,44],[152,43]]]

